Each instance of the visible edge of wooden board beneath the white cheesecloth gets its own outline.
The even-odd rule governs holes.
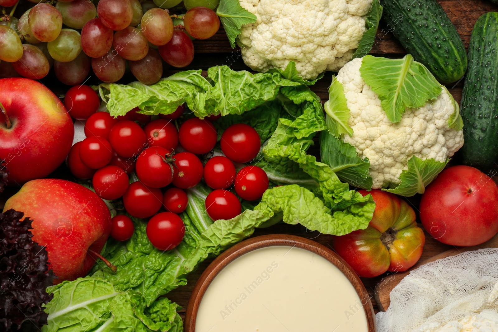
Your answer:
[[[422,262],[417,262],[412,268],[408,269],[405,272],[399,272],[396,274],[388,275],[377,284],[375,287],[375,300],[377,301],[378,310],[386,311],[389,308],[389,304],[391,303],[391,299],[389,298],[389,294],[392,289],[396,287],[399,282],[410,273],[410,270],[417,268],[420,265],[433,262],[440,258],[446,258],[450,256],[457,255],[459,253],[470,251],[470,250],[478,250],[483,248],[498,248],[498,234],[491,238],[489,241],[484,242],[483,244],[475,245],[472,247],[455,247],[454,249],[447,250],[438,255],[435,255],[429,259],[426,259]]]

